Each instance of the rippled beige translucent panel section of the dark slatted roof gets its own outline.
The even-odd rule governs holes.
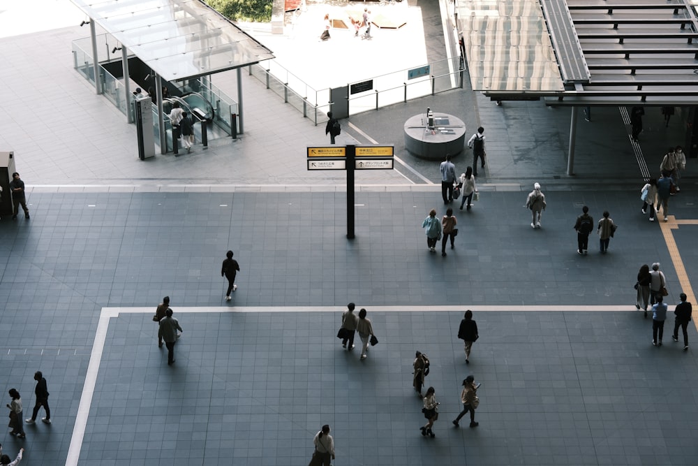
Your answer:
[[[564,89],[537,0],[459,0],[458,23],[474,90]]]

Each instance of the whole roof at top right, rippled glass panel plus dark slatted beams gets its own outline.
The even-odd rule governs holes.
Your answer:
[[[457,22],[473,89],[492,99],[678,106],[698,103],[697,1],[460,0]],[[557,80],[529,72],[551,64]]]

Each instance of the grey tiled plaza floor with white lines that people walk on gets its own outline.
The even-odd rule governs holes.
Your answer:
[[[73,8],[46,1],[46,15]],[[0,6],[0,25],[14,24],[17,11]],[[426,17],[424,34],[436,34]],[[570,110],[456,89],[354,115],[343,134],[394,143],[400,161],[357,173],[347,240],[346,174],[306,170],[304,148],[328,142],[324,127],[246,73],[239,141],[139,161],[133,126],[73,70],[82,19],[0,38],[0,150],[15,151],[31,210],[0,219],[0,368],[25,418],[42,370],[52,411],[51,425],[25,425],[26,439],[0,437],[5,453],[24,446],[22,465],[304,465],[329,423],[336,466],[695,464],[696,328],[682,351],[670,311],[653,347],[632,287],[658,261],[670,310],[681,291],[695,302],[695,159],[669,221],[639,212],[641,165],[656,173],[662,150],[683,141],[681,111],[667,128],[648,108],[636,146],[623,109],[594,109],[579,122],[574,176]],[[234,89],[235,73],[218,82]],[[487,128],[481,199],[470,212],[454,204],[446,257],[421,228],[430,208],[448,207],[438,163],[401,140],[426,106]],[[469,157],[456,157],[459,173]],[[534,230],[523,203],[535,181],[548,207]],[[582,205],[619,225],[609,254],[592,235],[577,255]],[[241,272],[225,302],[228,249]],[[165,295],[184,328],[171,367],[151,321]],[[379,340],[365,361],[335,337],[350,301]],[[469,365],[456,338],[466,309],[480,329]],[[419,434],[416,350],[440,401],[434,439]],[[456,429],[468,374],[482,382],[480,425]]]

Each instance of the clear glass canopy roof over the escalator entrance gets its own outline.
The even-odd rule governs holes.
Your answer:
[[[274,58],[200,0],[71,0],[168,81]]]

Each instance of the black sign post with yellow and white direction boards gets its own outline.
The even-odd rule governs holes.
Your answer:
[[[355,224],[355,170],[392,170],[395,148],[392,145],[348,144],[345,147],[308,146],[308,170],[346,170],[347,172],[347,239],[353,240]]]

